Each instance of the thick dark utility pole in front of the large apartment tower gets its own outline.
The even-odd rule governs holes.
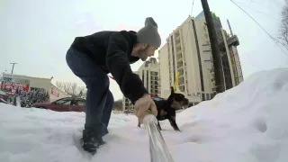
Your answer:
[[[209,4],[207,0],[201,0],[201,2],[202,2],[203,12],[205,14],[207,29],[209,32],[209,38],[211,42],[211,53],[212,53],[213,65],[215,69],[214,74],[215,74],[216,92],[222,93],[225,91],[225,85],[224,85],[222,60],[220,57],[219,42],[217,40],[216,30],[215,30],[214,22],[211,16]]]

